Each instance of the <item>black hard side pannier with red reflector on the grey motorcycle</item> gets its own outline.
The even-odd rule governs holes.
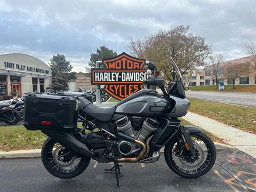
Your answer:
[[[23,125],[28,130],[71,132],[77,127],[75,97],[27,93]]]

